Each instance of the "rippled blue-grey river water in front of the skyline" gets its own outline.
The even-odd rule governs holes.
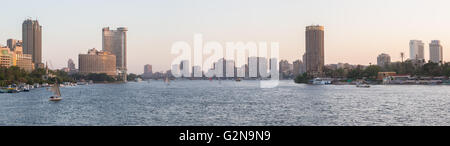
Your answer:
[[[162,81],[0,94],[0,125],[450,125],[450,86]]]

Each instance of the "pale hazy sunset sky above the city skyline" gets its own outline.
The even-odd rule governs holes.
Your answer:
[[[448,0],[14,0],[2,1],[0,44],[22,38],[22,22],[43,27],[43,60],[67,66],[78,54],[102,48],[103,27],[128,27],[128,70],[143,73],[170,68],[173,43],[204,41],[279,42],[280,58],[290,62],[305,52],[305,27],[325,27],[325,64],[375,64],[387,53],[399,61],[409,40],[441,40],[450,60]],[[409,56],[406,56],[409,57]]]

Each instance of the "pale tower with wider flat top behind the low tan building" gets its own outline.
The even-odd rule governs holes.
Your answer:
[[[127,31],[126,27],[119,27],[117,30],[105,27],[102,33],[103,51],[111,52],[116,56],[116,67],[123,81],[127,80]]]

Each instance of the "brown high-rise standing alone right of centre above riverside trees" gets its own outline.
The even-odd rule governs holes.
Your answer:
[[[325,65],[324,27],[312,25],[306,27],[306,71],[312,76],[323,76]]]

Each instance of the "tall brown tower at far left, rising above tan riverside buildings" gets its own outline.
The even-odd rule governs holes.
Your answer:
[[[23,53],[30,54],[36,67],[42,67],[42,26],[27,19],[22,24]]]

